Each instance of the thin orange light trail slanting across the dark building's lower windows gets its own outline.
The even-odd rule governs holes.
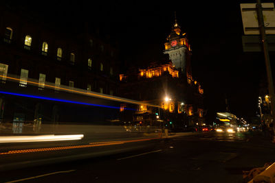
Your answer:
[[[5,76],[5,75],[0,75],[0,77],[5,77],[5,78],[10,79],[10,80],[17,80],[19,82],[23,81],[23,82],[28,82],[30,84],[41,85],[38,82],[31,82],[29,80],[21,80],[21,79],[15,78],[15,77],[8,77],[8,76]],[[51,86],[49,84],[43,84],[43,86],[47,86],[47,87],[50,87],[50,88],[61,89],[61,90],[74,92],[74,93],[80,93],[80,94],[84,94],[84,95],[91,95],[92,97],[100,97],[100,98],[104,98],[104,99],[110,99],[110,100],[114,100],[114,101],[124,101],[126,103],[134,103],[134,104],[140,104],[140,105],[143,104],[143,105],[153,106],[153,107],[157,107],[157,108],[161,107],[161,106],[156,106],[156,105],[149,104],[149,103],[142,103],[140,101],[134,101],[134,100],[131,100],[131,99],[122,99],[120,97],[109,97],[109,96],[106,96],[106,95],[100,95],[100,94],[96,94],[96,93],[87,93],[87,92],[82,92],[82,91],[78,91],[78,90],[62,88],[62,87],[58,87],[58,86]]]

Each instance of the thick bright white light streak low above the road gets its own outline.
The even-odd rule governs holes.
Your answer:
[[[75,141],[83,138],[83,134],[73,135],[39,135],[39,136],[0,136],[0,143],[30,143],[47,141]]]

